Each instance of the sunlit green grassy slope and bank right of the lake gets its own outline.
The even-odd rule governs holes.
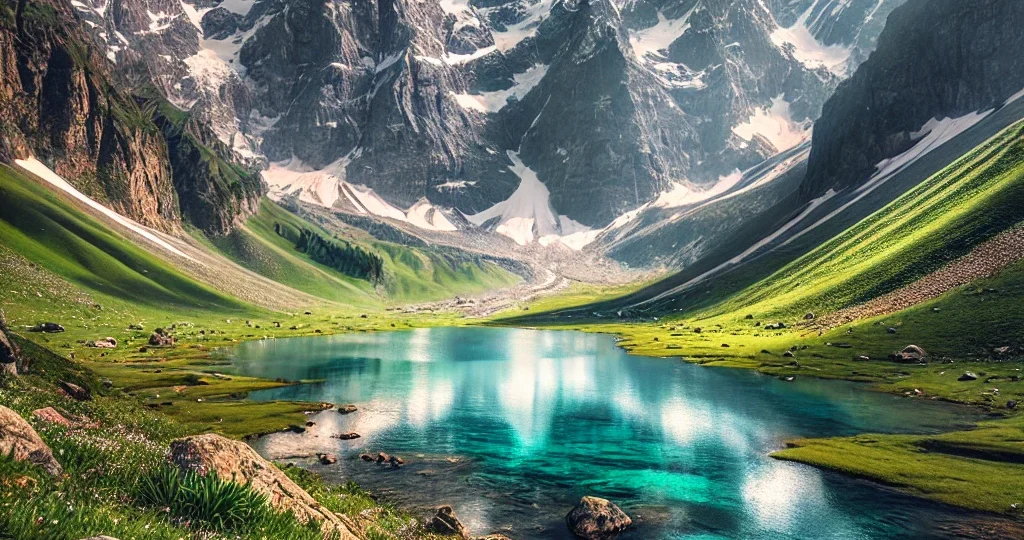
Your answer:
[[[1024,403],[1024,261],[912,307],[831,330],[803,316],[821,317],[897,290],[1022,222],[1024,124],[1016,124],[810,252],[788,254],[767,277],[757,264],[716,277],[688,293],[683,310],[656,323],[553,324],[618,334],[620,345],[634,354],[783,378],[864,381],[911,399],[983,408],[993,421],[973,430],[795,441],[776,457],[1021,516],[1024,414],[1008,404]],[[775,322],[787,328],[764,328]],[[910,343],[928,351],[927,364],[888,360]],[[959,380],[966,371],[977,379]]]

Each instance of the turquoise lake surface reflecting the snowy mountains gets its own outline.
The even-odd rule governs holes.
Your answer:
[[[253,341],[239,373],[324,382],[256,400],[352,403],[253,446],[413,508],[451,504],[473,534],[568,538],[583,495],[616,502],[624,538],[941,538],[964,512],[768,457],[797,437],[932,432],[976,420],[853,383],[631,357],[610,336],[437,328]],[[331,434],[355,431],[354,441]],[[401,456],[400,469],[358,459]],[[332,452],[319,465],[295,459]]]

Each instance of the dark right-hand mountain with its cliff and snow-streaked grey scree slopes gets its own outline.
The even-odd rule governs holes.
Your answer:
[[[612,257],[684,267],[582,310],[664,315],[736,294],[941,179],[1024,118],[1024,71],[1006,46],[1020,39],[1014,22],[1022,12],[1006,1],[911,0],[893,10],[878,49],[824,107],[810,149],[768,160],[722,190],[683,193],[683,204],[655,201],[603,231],[598,248]]]

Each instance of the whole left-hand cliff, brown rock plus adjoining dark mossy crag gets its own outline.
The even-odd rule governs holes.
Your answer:
[[[83,193],[163,231],[184,218],[226,234],[255,211],[259,178],[231,163],[201,122],[167,121],[184,116],[169,105],[143,109],[158,99],[137,101],[125,89],[130,83],[110,73],[70,6],[23,0],[2,8],[0,159],[35,155]]]

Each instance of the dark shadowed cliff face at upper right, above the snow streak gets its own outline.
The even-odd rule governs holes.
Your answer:
[[[815,124],[804,199],[866,181],[932,119],[1001,106],[1024,88],[1024,2],[910,0]]]

